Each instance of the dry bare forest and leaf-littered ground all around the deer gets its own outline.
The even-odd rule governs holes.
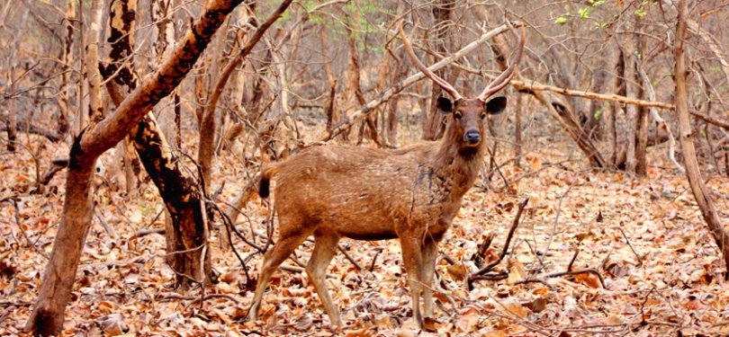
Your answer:
[[[243,319],[276,238],[261,164],[438,139],[445,93],[398,27],[473,96],[509,66],[507,20],[525,54],[428,333],[729,333],[727,7],[5,0],[0,333],[332,333],[311,243]],[[339,252],[343,333],[413,333],[399,244]]]

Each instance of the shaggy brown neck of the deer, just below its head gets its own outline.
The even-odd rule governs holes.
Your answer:
[[[481,171],[486,146],[481,142],[479,146],[464,148],[454,128],[446,130],[433,157],[433,173],[445,184],[443,187],[450,194],[448,199],[460,200],[473,187]]]

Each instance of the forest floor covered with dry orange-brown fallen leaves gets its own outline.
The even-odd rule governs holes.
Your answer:
[[[63,172],[49,183],[47,193],[29,193],[36,174],[29,148],[36,149],[41,140],[21,139],[26,145],[18,152],[0,155],[0,199],[17,196],[18,209],[10,202],[0,204],[0,335],[21,333],[30,315],[63,201]],[[437,263],[437,310],[427,322],[432,332],[421,335],[729,333],[725,266],[685,176],[666,162],[663,147],[651,150],[649,177],[636,179],[587,169],[561,137],[527,139],[521,168],[505,164],[503,179],[500,173],[488,183],[480,179],[466,195],[440,247],[447,259]],[[40,169],[66,154],[65,145],[46,145]],[[498,162],[511,154],[509,146],[500,146]],[[218,163],[213,190],[226,182],[220,200],[232,200],[247,182],[246,174],[238,159]],[[726,219],[729,179],[706,176],[720,217]],[[504,179],[516,182],[505,188]],[[479,280],[469,290],[464,270],[476,268],[472,256],[477,245],[493,233],[484,258],[495,259],[518,203],[526,198],[509,253],[495,270],[508,271],[508,279]],[[164,227],[154,186],[144,183],[132,197],[102,191],[97,199],[99,217],[110,229],[94,217],[64,334],[121,333],[114,327],[123,324],[130,335],[332,334],[329,318],[296,262],[284,262],[293,268],[275,274],[264,297],[262,321],[245,323],[253,293],[235,255],[220,250],[217,230],[211,231],[211,253],[220,281],[207,285],[204,293],[199,288],[178,291],[171,287],[174,272],[163,262],[164,236],[136,235]],[[238,219],[244,233],[250,235],[251,227],[266,231],[267,209],[258,199],[248,204],[247,217]],[[242,256],[254,252],[238,238],[234,241]],[[342,253],[329,268],[329,288],[347,324],[340,333],[411,335],[415,328],[407,319],[410,295],[399,244],[342,244],[363,270]],[[302,245],[298,260],[306,262],[311,248],[311,243]],[[548,275],[567,270],[576,252],[572,270],[599,270],[604,285],[593,273]],[[260,262],[260,254],[247,261],[251,277],[257,276]]]

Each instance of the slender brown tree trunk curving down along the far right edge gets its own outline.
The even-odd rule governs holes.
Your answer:
[[[674,68],[674,81],[676,84],[675,105],[676,113],[679,115],[679,139],[683,151],[683,161],[686,165],[686,175],[689,178],[691,191],[701,209],[701,214],[707,222],[707,226],[714,235],[716,245],[724,255],[725,268],[729,268],[729,235],[727,235],[724,224],[716,213],[714,200],[711,200],[707,188],[701,178],[701,171],[698,168],[694,138],[692,137],[691,121],[689,120],[689,92],[686,87],[686,60],[685,60],[685,39],[686,39],[686,15],[687,0],[680,0],[678,4],[678,27],[676,28],[676,42],[674,57],[676,65]],[[729,278],[729,272],[725,273]]]

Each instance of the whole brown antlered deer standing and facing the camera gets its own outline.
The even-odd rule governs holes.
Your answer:
[[[275,180],[275,212],[279,238],[264,254],[247,319],[255,321],[266,286],[278,266],[310,235],[314,249],[305,268],[333,326],[342,326],[338,307],[329,296],[326,271],[341,238],[400,239],[408,275],[412,317],[424,329],[433,315],[432,286],[437,245],[461,208],[482,169],[484,120],[504,111],[507,99],[491,99],[515,74],[524,49],[525,31],[509,67],[475,98],[464,98],[454,86],[424,66],[402,26],[400,36],[413,65],[453,100],[440,97],[447,127],[438,141],[399,149],[364,146],[311,146],[283,162],[266,164],[258,194],[267,198]],[[423,311],[420,296],[423,296]]]

